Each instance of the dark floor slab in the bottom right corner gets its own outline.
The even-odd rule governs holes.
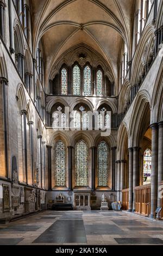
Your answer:
[[[124,244],[141,244],[145,245],[146,243],[153,244],[153,245],[158,245],[158,244],[163,244],[163,240],[159,238],[153,238],[153,237],[141,237],[141,238],[115,238],[116,242],[119,245],[124,245]]]

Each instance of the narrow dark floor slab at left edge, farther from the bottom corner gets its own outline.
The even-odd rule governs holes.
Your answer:
[[[36,225],[12,225],[6,228],[0,228],[1,231],[36,231],[41,226]]]

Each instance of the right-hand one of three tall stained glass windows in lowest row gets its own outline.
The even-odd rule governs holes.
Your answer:
[[[108,145],[102,141],[98,145],[98,186],[108,186]]]

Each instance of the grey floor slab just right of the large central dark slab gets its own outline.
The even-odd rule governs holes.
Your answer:
[[[86,235],[125,235],[126,233],[116,225],[93,224],[85,225]]]

